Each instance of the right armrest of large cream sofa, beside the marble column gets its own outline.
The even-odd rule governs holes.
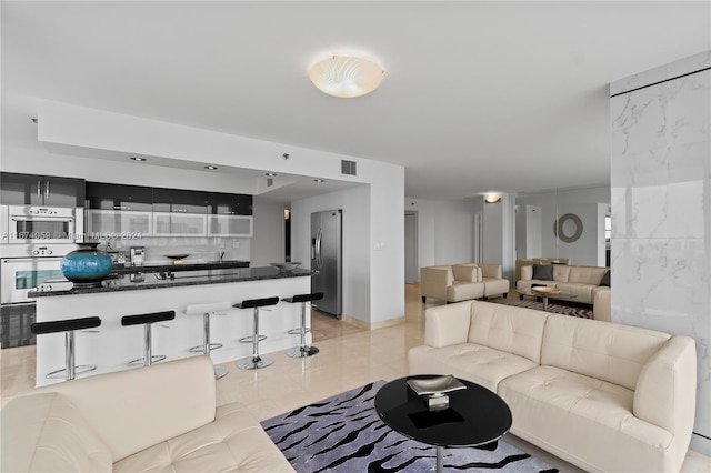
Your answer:
[[[672,336],[642,366],[634,389],[635,417],[689,444],[697,396],[697,350],[690,336]]]

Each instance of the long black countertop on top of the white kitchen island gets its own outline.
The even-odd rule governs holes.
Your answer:
[[[179,264],[177,266],[183,266],[186,264]],[[187,266],[187,265],[186,265]],[[191,266],[197,266],[192,264]],[[164,274],[160,274],[160,270],[156,270],[159,266],[147,266],[150,272],[136,273],[137,268],[130,268],[130,273],[112,272],[109,278],[101,281],[101,285],[79,288],[74,284],[74,288],[68,291],[50,291],[50,292],[29,292],[30,298],[47,298],[53,295],[77,295],[77,294],[93,294],[99,292],[118,292],[118,291],[137,291],[143,289],[164,289],[164,288],[179,288],[186,285],[202,285],[202,284],[223,284],[230,282],[246,282],[246,281],[261,281],[270,279],[284,279],[284,278],[302,278],[310,276],[313,271],[298,268],[290,272],[280,272],[277,268],[216,268],[214,263],[209,264],[209,269],[197,271],[192,268],[192,272],[173,273],[174,279],[170,276],[161,279]],[[174,271],[173,265],[167,266]],[[128,269],[128,268],[127,268]],[[137,280],[137,275],[139,279]]]

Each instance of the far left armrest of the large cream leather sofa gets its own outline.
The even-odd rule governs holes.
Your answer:
[[[424,312],[424,344],[448,346],[467,343],[471,324],[471,302],[430,308]]]

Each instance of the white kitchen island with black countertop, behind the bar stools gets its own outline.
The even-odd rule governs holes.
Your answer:
[[[76,334],[76,364],[96,364],[97,370],[84,376],[129,369],[128,362],[143,354],[143,326],[122,326],[124,315],[176,311],[176,319],[153,325],[153,354],[167,360],[193,356],[189,350],[202,344],[202,316],[187,315],[186,306],[214,302],[236,304],[247,299],[289,298],[309,293],[311,270],[289,272],[277,268],[223,268],[180,271],[167,268],[131,268],[112,272],[101,285],[72,288],[64,291],[31,292],[37,301],[37,321],[48,322],[83,316],[99,316],[101,326]],[[150,272],[149,272],[150,271]],[[300,324],[299,304],[280,302],[260,313],[260,353],[286,350],[299,344],[299,335],[288,330]],[[211,318],[211,342],[222,348],[211,353],[214,363],[249,356],[250,343],[239,339],[252,333],[253,311],[230,309]],[[309,334],[310,338],[310,334]],[[308,340],[310,342],[310,339]],[[37,338],[37,385],[62,379],[46,379],[46,374],[63,368],[63,333]],[[277,363],[279,360],[277,359]],[[237,370],[237,366],[230,366]]]

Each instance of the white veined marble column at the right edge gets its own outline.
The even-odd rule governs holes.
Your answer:
[[[610,87],[612,321],[695,339],[711,455],[711,51]]]

